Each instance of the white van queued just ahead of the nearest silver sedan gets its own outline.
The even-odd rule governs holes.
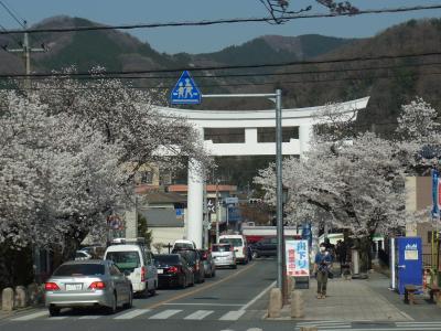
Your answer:
[[[107,247],[104,259],[114,261],[130,279],[133,293],[155,295],[158,270],[153,255],[142,241],[116,239]]]

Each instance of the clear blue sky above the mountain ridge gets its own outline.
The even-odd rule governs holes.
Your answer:
[[[158,23],[234,18],[261,18],[268,12],[260,0],[0,0],[29,24],[54,15],[85,18],[105,24]],[[441,4],[441,0],[352,0],[359,9],[384,9]],[[326,13],[314,0],[289,0],[291,10],[312,6],[310,13]],[[410,19],[441,18],[441,10],[408,13],[369,14],[352,18],[293,20],[280,25],[236,23],[213,26],[158,28],[127,31],[154,50],[175,54],[209,53],[239,45],[260,35],[295,36],[318,33],[340,38],[366,38]],[[0,24],[17,29],[19,24],[0,6]]]

